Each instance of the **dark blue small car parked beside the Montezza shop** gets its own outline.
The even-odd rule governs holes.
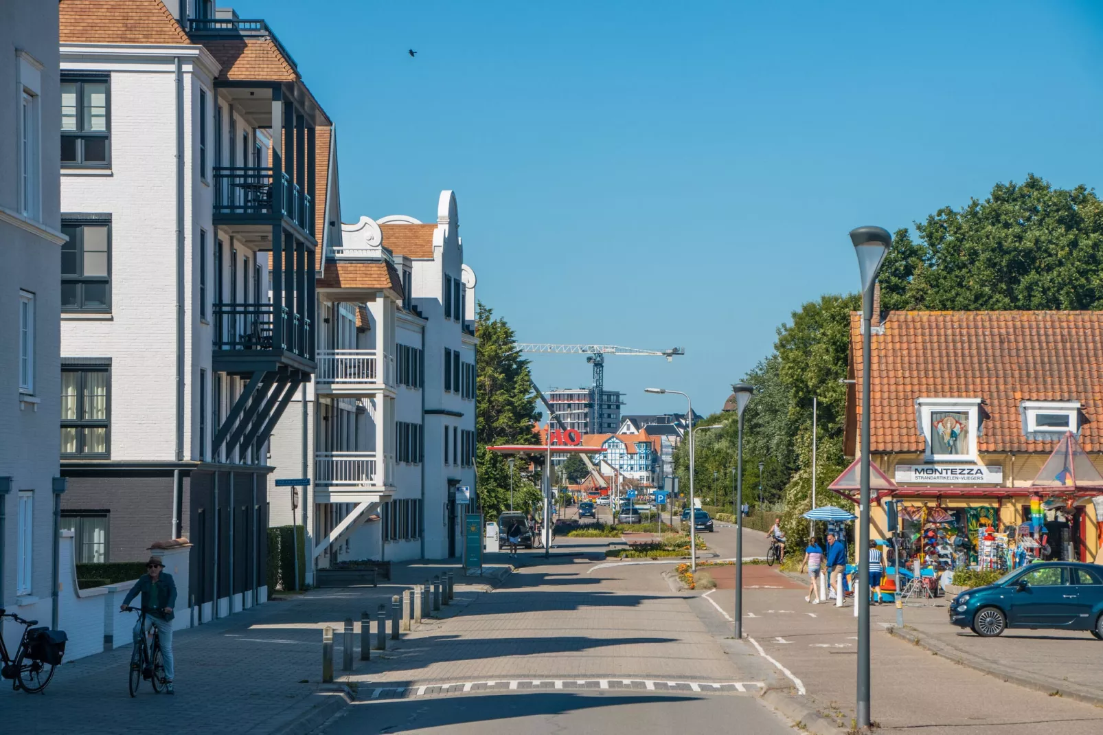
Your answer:
[[[1080,562],[1030,564],[957,595],[950,622],[985,638],[1007,628],[1064,628],[1103,640],[1103,569]]]

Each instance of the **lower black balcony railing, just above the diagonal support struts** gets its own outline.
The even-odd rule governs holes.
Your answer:
[[[274,320],[275,315],[278,320]],[[313,359],[310,320],[272,303],[215,303],[215,350],[290,350]]]

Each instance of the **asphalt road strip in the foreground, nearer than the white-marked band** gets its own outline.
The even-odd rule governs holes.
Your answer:
[[[333,722],[328,735],[367,733],[609,733],[671,735],[716,732],[794,733],[783,718],[751,696],[625,692],[534,692],[357,703]],[[719,729],[728,731],[727,726]]]

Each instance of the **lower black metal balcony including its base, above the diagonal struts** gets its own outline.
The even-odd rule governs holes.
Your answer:
[[[274,303],[213,305],[215,370],[249,372],[286,363],[313,372],[310,319]]]

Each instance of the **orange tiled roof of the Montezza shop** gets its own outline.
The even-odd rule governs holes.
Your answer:
[[[850,374],[861,381],[860,316],[850,315]],[[923,451],[920,397],[983,398],[979,451],[1052,451],[1028,439],[1021,401],[1080,401],[1080,443],[1103,449],[1103,311],[893,311],[874,334],[870,450]],[[849,386],[845,447],[857,448],[861,405]]]

